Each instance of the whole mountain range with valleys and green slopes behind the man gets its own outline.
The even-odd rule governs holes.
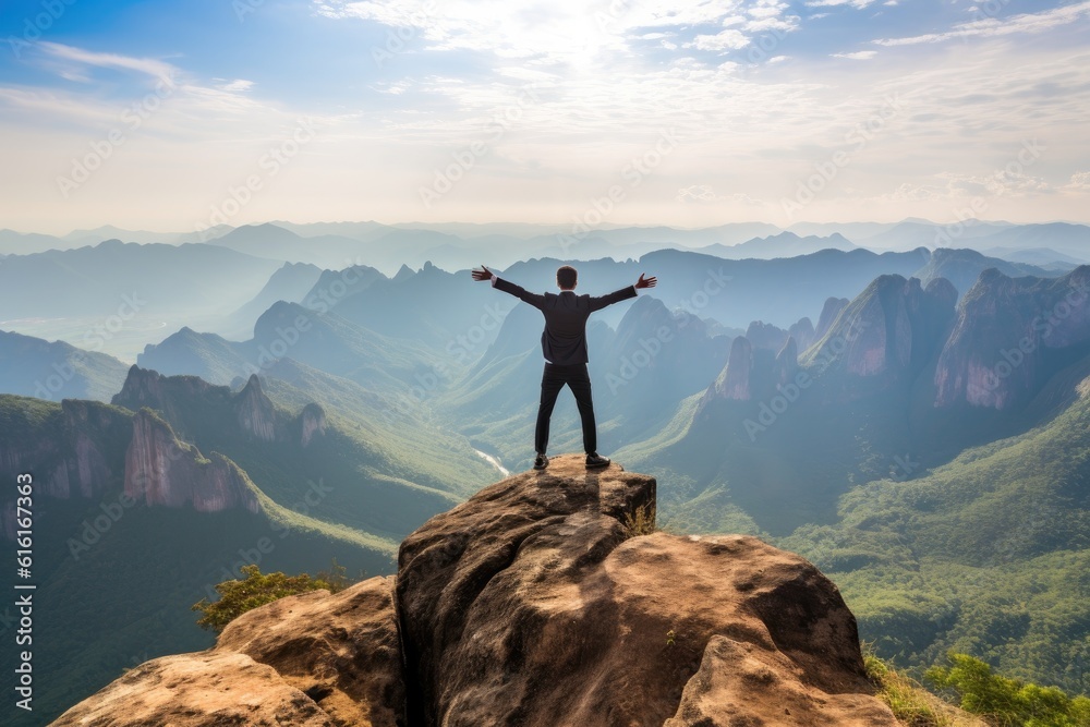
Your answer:
[[[365,227],[322,231],[421,250],[436,235],[537,232]],[[995,227],[980,239],[1016,229]],[[578,263],[581,292],[659,277],[588,329],[603,452],[657,478],[668,530],[755,535],[810,558],[884,657],[922,670],[956,649],[1087,691],[1087,615],[1067,584],[1081,583],[1090,537],[1090,267],[880,254],[799,232],[765,241],[786,255],[772,259],[654,250]],[[843,250],[792,255],[821,241]],[[324,269],[216,241],[13,255],[0,274],[9,262],[27,289],[68,276],[75,292],[51,316],[100,320],[117,315],[111,287],[166,266],[136,295],[159,295],[160,323],[193,318],[150,340],[133,329],[135,366],[71,337],[0,332],[0,476],[31,470],[40,487],[43,623],[57,634],[40,664],[65,675],[44,696],[55,714],[133,661],[208,646],[189,606],[246,555],[263,569],[315,572],[336,556],[391,572],[401,538],[530,464],[541,316],[464,268]],[[548,290],[564,262],[495,270]],[[554,451],[580,449],[569,397],[553,431]],[[254,549],[280,532],[290,548]]]

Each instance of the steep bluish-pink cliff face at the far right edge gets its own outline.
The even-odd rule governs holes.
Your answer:
[[[958,307],[935,371],[935,405],[1026,404],[1090,353],[1090,266],[1057,279],[981,274]]]

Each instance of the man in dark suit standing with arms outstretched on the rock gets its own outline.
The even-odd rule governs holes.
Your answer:
[[[601,468],[609,464],[609,458],[598,457],[597,431],[594,426],[594,404],[591,401],[591,378],[586,373],[586,319],[595,311],[607,305],[635,298],[637,291],[654,288],[657,279],[642,275],[634,286],[622,288],[608,295],[576,295],[578,274],[576,268],[565,265],[556,271],[556,284],[560,294],[526,292],[513,282],[502,280],[492,270],[481,266],[473,270],[473,279],[491,280],[493,288],[510,293],[545,315],[545,330],[542,331],[542,353],[545,355],[545,372],[542,374],[542,398],[537,408],[537,427],[534,432],[534,448],[537,457],[534,469],[548,467],[548,424],[553,407],[560,389],[567,384],[576,397],[579,417],[583,423],[583,449],[586,451],[586,467]]]

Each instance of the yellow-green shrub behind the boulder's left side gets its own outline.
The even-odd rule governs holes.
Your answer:
[[[191,606],[193,610],[198,610],[202,614],[201,618],[197,619],[197,626],[202,629],[213,629],[219,633],[223,627],[247,610],[253,610],[284,596],[320,589],[337,593],[348,585],[344,567],[338,566],[336,558],[331,572],[323,571],[314,578],[310,573],[300,573],[299,575],[284,575],[280,571],[262,573],[261,568],[256,565],[243,566],[241,570],[245,578],[216,584],[216,592],[220,596],[219,601],[209,602],[207,598],[202,598]]]

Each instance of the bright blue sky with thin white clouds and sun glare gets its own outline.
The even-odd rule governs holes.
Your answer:
[[[2,0],[0,228],[1090,222],[1090,1]]]

